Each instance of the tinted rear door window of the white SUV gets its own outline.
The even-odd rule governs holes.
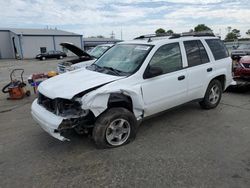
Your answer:
[[[200,40],[185,41],[184,46],[189,67],[209,62],[207,52]]]

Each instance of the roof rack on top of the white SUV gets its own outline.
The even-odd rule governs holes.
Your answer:
[[[134,40],[140,40],[140,39],[148,39],[148,42],[152,42],[151,38],[156,38],[156,37],[169,37],[169,39],[175,39],[175,38],[180,38],[180,37],[187,37],[187,36],[193,36],[193,37],[215,37],[214,33],[212,31],[200,31],[200,32],[183,32],[183,33],[173,33],[172,35],[170,34],[148,34],[148,35],[141,35],[139,37],[134,38]]]

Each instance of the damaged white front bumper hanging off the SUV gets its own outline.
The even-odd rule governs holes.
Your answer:
[[[32,103],[31,114],[33,119],[51,136],[61,141],[69,140],[61,136],[58,131],[58,127],[62,124],[64,118],[47,111],[37,103],[37,99]]]

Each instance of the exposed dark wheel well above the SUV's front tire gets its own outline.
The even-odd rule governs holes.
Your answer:
[[[130,96],[122,93],[112,93],[109,96],[108,108],[123,107],[133,112],[133,104]]]

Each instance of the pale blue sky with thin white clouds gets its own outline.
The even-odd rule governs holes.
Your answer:
[[[250,29],[250,0],[0,0],[0,28],[57,28],[130,40],[158,28],[176,33],[206,24],[222,38],[228,26]],[[121,32],[122,31],[122,32]]]

